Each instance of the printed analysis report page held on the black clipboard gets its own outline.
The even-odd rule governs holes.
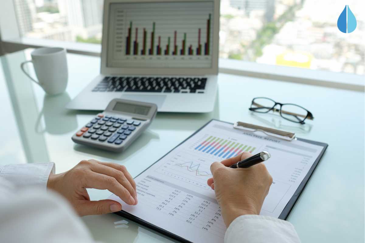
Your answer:
[[[138,204],[123,210],[190,242],[224,242],[226,226],[214,191],[207,185],[214,161],[244,151],[266,150],[265,161],[273,177],[260,215],[278,217],[323,147],[303,141],[284,141],[234,129],[213,120],[183,144],[135,178]]]

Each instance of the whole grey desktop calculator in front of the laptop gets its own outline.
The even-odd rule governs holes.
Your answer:
[[[113,99],[78,130],[72,141],[112,152],[122,152],[148,128],[157,113],[153,103]]]

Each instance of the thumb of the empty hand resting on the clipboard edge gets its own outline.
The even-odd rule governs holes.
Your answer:
[[[113,213],[122,210],[122,205],[114,200],[85,201],[77,212],[80,216]]]

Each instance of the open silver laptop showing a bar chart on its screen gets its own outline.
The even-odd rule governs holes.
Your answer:
[[[105,0],[101,71],[66,107],[114,98],[163,112],[210,112],[218,75],[219,0]]]

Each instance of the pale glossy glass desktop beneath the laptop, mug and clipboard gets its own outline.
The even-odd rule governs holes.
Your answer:
[[[0,57],[0,164],[53,161],[56,173],[61,173],[93,158],[123,164],[135,177],[213,118],[288,130],[300,138],[329,144],[288,217],[301,241],[364,242],[363,92],[219,74],[213,112],[158,113],[125,153],[109,153],[71,140],[79,124],[86,124],[97,111],[63,108],[99,73],[100,58],[67,54],[66,92],[48,97],[20,71],[20,63],[30,59],[30,52]],[[35,75],[31,68],[28,71]],[[300,103],[315,114],[315,120],[295,126],[280,117],[252,115],[247,104],[258,96]],[[105,190],[88,192],[91,200],[111,195]],[[85,216],[82,220],[101,242],[174,242],[117,215]]]

